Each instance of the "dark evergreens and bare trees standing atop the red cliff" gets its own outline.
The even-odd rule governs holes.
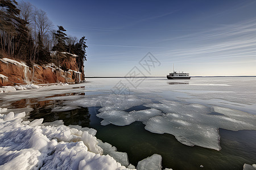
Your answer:
[[[63,26],[54,30],[43,10],[30,2],[0,0],[0,57],[7,55],[27,63],[49,63],[57,66],[68,55],[76,54],[80,71],[86,60],[86,39],[68,36]],[[51,55],[55,51],[55,55]]]

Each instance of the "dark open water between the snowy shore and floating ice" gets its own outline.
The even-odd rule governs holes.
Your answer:
[[[63,94],[84,95],[84,94]],[[63,96],[55,95],[55,96]],[[51,96],[52,97],[52,96]],[[127,152],[133,165],[151,156],[162,155],[164,168],[172,169],[242,169],[244,163],[256,163],[256,131],[230,131],[220,129],[220,151],[203,147],[189,147],[178,142],[171,134],[154,134],[144,129],[142,122],[134,122],[128,126],[101,126],[101,119],[96,116],[100,107],[76,108],[71,111],[52,112],[52,108],[63,106],[62,100],[37,101],[23,99],[15,101],[14,108],[30,105],[28,120],[44,118],[44,122],[63,120],[65,125],[80,125],[97,130],[96,137],[117,147],[118,151]],[[127,109],[148,109],[143,105]],[[214,113],[213,113],[214,114]]]

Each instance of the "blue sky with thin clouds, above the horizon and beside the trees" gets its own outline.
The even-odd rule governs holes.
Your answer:
[[[256,75],[256,1],[29,2],[68,35],[86,36],[86,76],[134,66],[165,76],[173,64],[191,76]],[[150,73],[139,65],[148,52],[161,63]]]

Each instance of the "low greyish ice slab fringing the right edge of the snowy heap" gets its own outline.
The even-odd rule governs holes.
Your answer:
[[[102,148],[104,155],[112,156],[117,162],[121,163],[121,165],[126,167],[129,165],[128,155],[125,152],[118,152],[116,147],[109,143],[104,143],[100,139],[98,139],[98,146]]]

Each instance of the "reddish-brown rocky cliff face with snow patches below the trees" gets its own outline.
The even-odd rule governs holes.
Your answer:
[[[76,57],[64,60],[65,70],[55,64],[28,67],[24,62],[9,58],[0,58],[0,86],[19,84],[75,83],[84,80],[84,71],[79,72]]]

